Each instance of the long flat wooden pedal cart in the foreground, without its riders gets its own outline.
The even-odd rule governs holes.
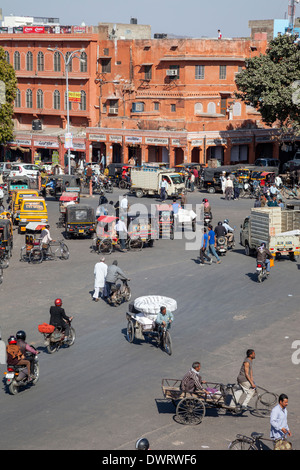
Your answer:
[[[197,425],[202,423],[206,409],[215,408],[219,412],[229,412],[232,414],[241,414],[242,406],[236,402],[235,390],[236,384],[227,384],[216,382],[206,382],[203,390],[197,390],[193,393],[181,390],[180,379],[162,379],[162,393],[166,399],[172,401],[176,408],[176,421],[185,425]],[[253,414],[261,418],[269,417],[270,412],[278,402],[278,395],[268,392],[262,387],[257,387],[256,403]],[[229,406],[230,404],[230,406]]]

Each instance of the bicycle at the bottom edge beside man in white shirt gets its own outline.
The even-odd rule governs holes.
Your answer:
[[[292,445],[286,438],[270,439],[261,432],[252,432],[251,437],[237,434],[236,439],[230,442],[228,450],[271,450],[264,442],[272,442],[273,450],[291,450]]]

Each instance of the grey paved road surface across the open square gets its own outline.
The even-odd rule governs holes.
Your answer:
[[[113,199],[120,194],[115,191]],[[201,202],[203,196],[195,192],[189,202]],[[253,206],[253,201],[225,201],[219,194],[209,199],[214,224],[228,217],[237,232]],[[87,202],[97,206],[97,198]],[[48,209],[51,233],[61,237],[55,227],[58,203],[48,201]],[[291,360],[292,343],[300,340],[298,263],[277,262],[270,278],[259,285],[253,276],[255,260],[238,243],[220,265],[211,266],[200,266],[198,250],[186,251],[184,240],[160,240],[141,253],[107,257],[108,263],[117,259],[128,273],[133,298],[159,294],[177,300],[174,352],[169,357],[149,343],[126,341],[126,305],[114,309],[92,302],[97,255],[90,252],[90,240],[68,240],[68,261],[37,266],[19,262],[23,237],[16,234],[14,242],[11,266],[0,287],[0,327],[4,339],[26,330],[41,350],[41,377],[17,396],[7,394],[2,384],[1,449],[130,450],[142,435],[153,450],[226,449],[237,433],[268,435],[268,419],[250,412],[236,417],[208,410],[201,425],[182,426],[161,392],[162,378],[181,378],[194,360],[201,361],[204,379],[235,382],[250,347],[257,354],[257,384],[289,395],[289,424],[294,446],[300,448],[300,365]],[[56,297],[74,315],[77,338],[72,348],[48,355],[37,326],[48,321]]]

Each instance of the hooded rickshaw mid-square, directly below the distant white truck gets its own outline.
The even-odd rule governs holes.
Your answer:
[[[157,219],[151,213],[127,214],[127,226],[128,235],[131,239],[131,249],[134,249],[135,245],[135,249],[138,250],[145,243],[152,247],[154,240],[159,238]]]

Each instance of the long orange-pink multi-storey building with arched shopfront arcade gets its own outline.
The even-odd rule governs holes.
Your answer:
[[[69,89],[72,153],[86,161],[139,164],[253,163],[278,157],[279,145],[260,115],[237,101],[235,75],[248,57],[264,53],[265,40],[107,39],[103,28],[63,34],[0,34],[0,45],[18,78],[15,139],[4,151],[13,159],[64,163],[67,123],[64,64],[48,48],[74,58]],[[41,130],[36,130],[41,125]]]

